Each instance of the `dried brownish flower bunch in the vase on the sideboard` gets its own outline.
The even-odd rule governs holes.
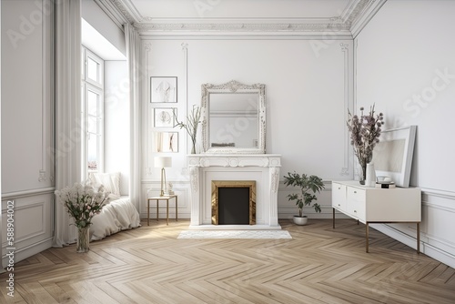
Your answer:
[[[362,169],[363,180],[366,179],[367,164],[373,157],[373,149],[379,143],[380,127],[384,125],[384,115],[379,113],[375,116],[374,106],[373,104],[369,107],[367,114],[364,114],[364,108],[360,107],[360,116],[352,115],[348,111],[349,118],[346,123],[351,133],[350,144],[354,147],[354,154]]]

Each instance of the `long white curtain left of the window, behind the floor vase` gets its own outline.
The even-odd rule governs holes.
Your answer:
[[[55,2],[56,189],[81,180],[81,0]],[[56,201],[54,247],[76,239],[76,228]]]

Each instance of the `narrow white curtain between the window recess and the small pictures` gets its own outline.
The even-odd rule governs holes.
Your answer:
[[[130,181],[129,197],[139,210],[140,199],[140,38],[136,29],[124,25],[126,40],[126,60],[129,76],[129,109],[130,109]]]

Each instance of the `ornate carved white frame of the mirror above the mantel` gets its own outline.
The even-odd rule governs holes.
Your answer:
[[[210,147],[210,94],[258,93],[258,146],[257,147]],[[226,84],[202,85],[202,145],[204,153],[265,154],[266,153],[266,85],[251,86],[231,80]]]

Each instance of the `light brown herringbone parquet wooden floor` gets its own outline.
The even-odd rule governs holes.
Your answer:
[[[143,222],[15,265],[0,303],[455,303],[455,270],[352,219],[281,220],[292,239],[177,239],[187,220]]]

